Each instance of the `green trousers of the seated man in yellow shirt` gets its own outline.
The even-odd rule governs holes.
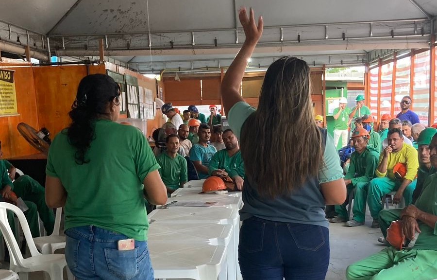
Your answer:
[[[378,219],[379,212],[382,210],[381,197],[385,196],[387,193],[396,192],[400,185],[400,181],[393,181],[388,177],[374,178],[370,181],[367,204],[369,205],[370,215],[373,219]],[[411,204],[415,188],[416,179],[413,180],[403,191],[405,206]]]

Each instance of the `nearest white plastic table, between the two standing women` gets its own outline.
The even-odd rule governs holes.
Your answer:
[[[226,279],[232,225],[151,223],[148,245],[155,279]],[[225,257],[226,256],[226,257]]]

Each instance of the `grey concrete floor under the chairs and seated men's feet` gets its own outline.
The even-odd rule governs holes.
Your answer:
[[[390,206],[391,208],[392,206]],[[345,223],[330,224],[331,259],[325,280],[346,280],[346,268],[349,264],[364,259],[385,248],[377,240],[382,236],[379,228],[371,228],[372,218],[366,209],[366,222],[360,227],[346,227]],[[61,224],[62,232],[63,224]],[[56,253],[64,253],[59,249]],[[2,262],[2,269],[9,269],[8,262]],[[67,274],[64,271],[64,279]],[[29,274],[29,280],[44,280],[42,272]]]

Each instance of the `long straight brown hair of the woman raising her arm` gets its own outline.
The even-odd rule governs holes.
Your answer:
[[[310,69],[296,57],[282,57],[266,72],[258,109],[240,137],[246,177],[261,195],[289,194],[318,175],[324,147],[310,90]]]

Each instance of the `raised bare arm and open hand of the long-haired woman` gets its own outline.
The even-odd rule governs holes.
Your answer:
[[[251,8],[250,17],[247,17],[246,8],[241,8],[238,12],[241,25],[243,26],[246,40],[241,47],[241,50],[235,56],[231,66],[226,71],[226,74],[221,82],[221,96],[223,98],[223,106],[229,111],[237,102],[243,101],[239,90],[243,79],[244,71],[249,58],[252,56],[256,43],[263,34],[263,18],[259,17],[258,26],[255,24],[254,13]]]

